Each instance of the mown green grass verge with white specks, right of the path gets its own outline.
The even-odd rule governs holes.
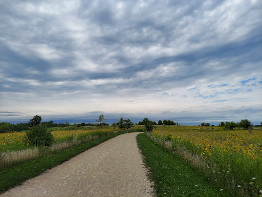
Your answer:
[[[228,196],[223,190],[213,188],[208,179],[181,156],[157,146],[144,133],[137,135],[137,142],[157,196]]]

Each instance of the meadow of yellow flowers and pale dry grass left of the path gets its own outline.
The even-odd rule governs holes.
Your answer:
[[[25,143],[26,132],[0,133],[0,170],[47,155],[50,152],[75,147],[102,136],[125,131],[125,129],[111,126],[105,126],[103,129],[99,127],[78,127],[76,130],[65,129],[65,127],[49,128],[55,138],[55,142],[50,147],[37,147]],[[130,132],[134,131],[143,131],[143,128],[135,127],[130,129]]]

